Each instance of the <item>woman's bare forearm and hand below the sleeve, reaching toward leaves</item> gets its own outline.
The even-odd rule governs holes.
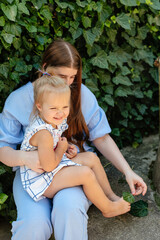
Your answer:
[[[116,143],[109,134],[97,138],[93,141],[96,148],[106,157],[112,164],[121,171],[128,182],[133,195],[145,195],[147,185],[141,177],[139,177],[124,159]]]

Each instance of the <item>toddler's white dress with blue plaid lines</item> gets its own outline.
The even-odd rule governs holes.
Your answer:
[[[68,128],[66,119],[62,124],[58,126],[57,129],[53,128],[52,125],[45,123],[39,116],[37,116],[34,121],[26,128],[24,140],[21,144],[21,150],[24,151],[34,151],[37,150],[37,147],[30,145],[29,140],[31,137],[38,131],[42,129],[47,129],[54,138],[54,146],[57,146],[59,137],[62,133]],[[47,161],[47,159],[46,159]],[[21,181],[23,188],[28,192],[28,194],[35,201],[39,201],[40,199],[45,198],[43,193],[51,184],[54,175],[63,167],[78,165],[72,162],[69,158],[64,154],[59,165],[51,172],[44,173],[36,173],[27,166],[20,167]]]

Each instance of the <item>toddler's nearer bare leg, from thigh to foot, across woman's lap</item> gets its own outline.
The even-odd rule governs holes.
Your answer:
[[[88,199],[101,210],[104,216],[112,217],[126,213],[130,204],[120,199],[111,202],[100,187],[94,172],[86,166],[70,166],[61,169],[45,191],[44,195],[52,198],[59,190],[67,187],[83,185],[83,190]]]

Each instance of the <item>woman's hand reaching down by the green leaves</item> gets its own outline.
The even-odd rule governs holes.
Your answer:
[[[127,172],[125,176],[133,195],[142,194],[144,196],[146,194],[147,185],[140,176],[132,170]]]

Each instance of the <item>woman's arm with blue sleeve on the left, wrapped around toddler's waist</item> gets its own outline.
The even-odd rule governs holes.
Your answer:
[[[0,113],[0,162],[17,167],[26,165],[32,170],[41,173],[37,152],[16,150],[23,140],[23,126],[28,120],[33,107],[31,83],[12,92],[7,98],[4,109]]]

